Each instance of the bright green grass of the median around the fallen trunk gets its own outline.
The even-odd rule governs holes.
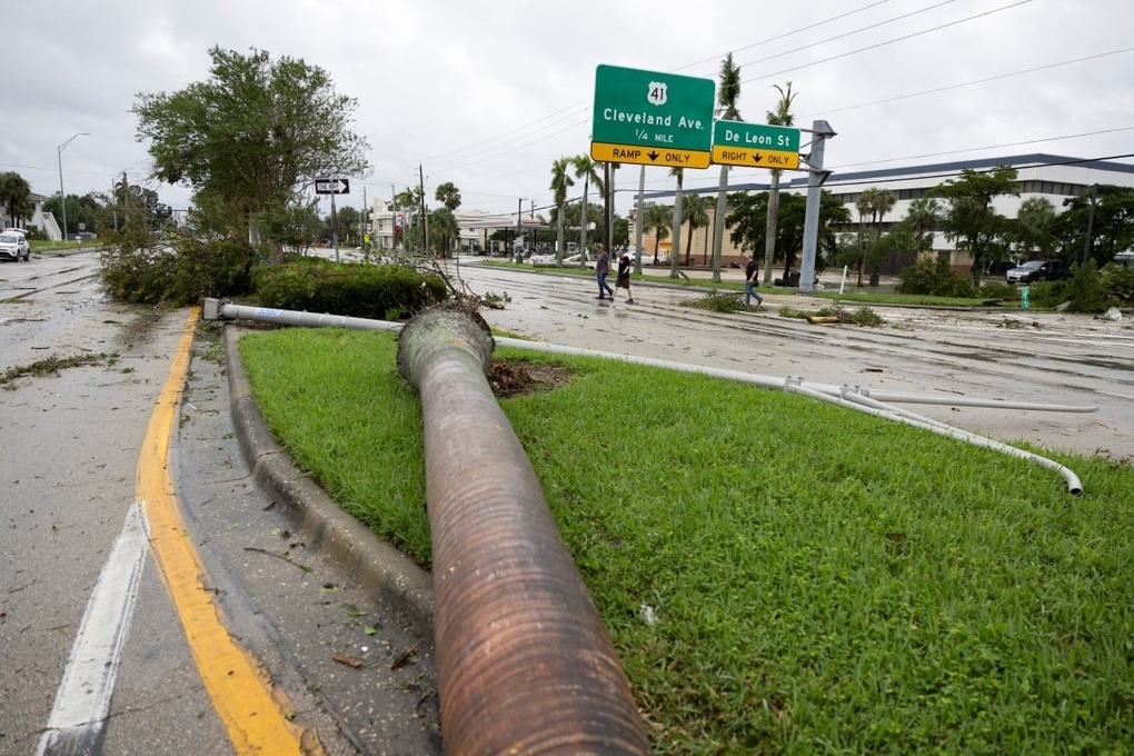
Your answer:
[[[428,564],[395,349],[323,329],[240,341],[299,464]],[[501,406],[655,753],[1129,753],[1132,467],[1051,455],[1083,479],[1073,499],[1026,461],[794,394],[498,356],[574,373]]]

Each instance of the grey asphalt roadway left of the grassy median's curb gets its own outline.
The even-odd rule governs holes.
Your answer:
[[[85,654],[73,651],[76,638],[93,636],[100,652],[117,643],[84,618],[115,572],[108,564],[137,511],[144,469],[170,472],[200,558],[200,574],[188,577],[254,657],[276,714],[304,750],[440,753],[429,628],[375,593],[367,576],[306,544],[279,499],[256,485],[229,411],[215,328],[193,342],[176,433],[164,458],[152,458],[147,427],[189,313],[103,301],[94,264],[86,253],[0,266],[0,365],[90,363],[0,387],[0,754],[36,753],[60,721],[66,681]],[[109,711],[91,737],[107,754],[251,753],[242,728],[255,733],[268,712],[245,715],[235,734],[218,714],[223,704],[205,679],[228,671],[175,604],[150,525],[151,549],[124,589],[133,610]],[[93,697],[107,683],[98,677],[83,679],[71,699]]]

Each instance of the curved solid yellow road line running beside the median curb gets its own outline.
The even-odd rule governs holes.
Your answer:
[[[287,721],[255,660],[236,645],[202,583],[204,568],[169,478],[169,439],[201,311],[194,307],[158,398],[138,460],[137,498],[150,520],[151,545],[177,608],[193,659],[239,755],[303,754],[303,730]]]

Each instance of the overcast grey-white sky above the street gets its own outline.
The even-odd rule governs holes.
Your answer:
[[[6,3],[0,171],[32,190],[108,192],[146,181],[138,93],[209,73],[213,45],[302,58],[357,99],[373,172],[342,204],[452,181],[463,210],[551,204],[552,162],[590,152],[595,67],[716,80],[741,66],[742,118],[763,122],[776,90],[796,125],[838,133],[840,170],[1047,152],[1134,153],[1134,0],[40,0]],[[1131,162],[1125,159],[1123,162]],[[685,186],[716,186],[719,169]],[[765,181],[735,169],[730,182]],[[617,172],[618,212],[638,168]],[[185,207],[191,192],[147,184]],[[671,189],[666,169],[648,190]]]

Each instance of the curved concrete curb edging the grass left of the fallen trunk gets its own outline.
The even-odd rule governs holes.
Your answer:
[[[307,547],[338,563],[346,578],[380,595],[418,634],[433,635],[433,579],[409,558],[384,543],[295,466],[276,442],[248,385],[237,341],[240,329],[225,324],[225,364],[229,410],[240,450],[256,485],[295,524]]]

